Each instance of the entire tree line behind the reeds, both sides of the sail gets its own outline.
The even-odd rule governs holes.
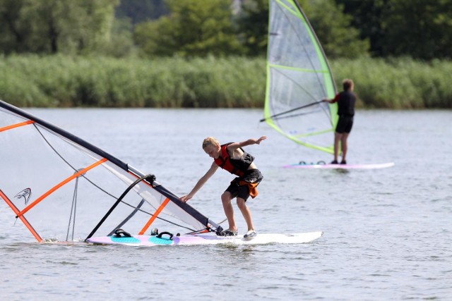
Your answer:
[[[330,59],[451,59],[452,0],[299,0]],[[265,56],[268,0],[0,0],[0,53]]]

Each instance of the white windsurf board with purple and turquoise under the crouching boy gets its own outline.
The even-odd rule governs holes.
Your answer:
[[[162,235],[131,235],[131,237],[100,236],[88,238],[87,242],[101,245],[130,245],[130,246],[155,246],[155,245],[266,245],[270,243],[299,244],[307,243],[320,238],[323,232],[287,233],[287,234],[258,234],[256,237],[246,239],[243,235],[218,236],[213,233],[172,236]]]

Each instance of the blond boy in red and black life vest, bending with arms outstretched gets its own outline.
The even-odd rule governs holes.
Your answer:
[[[242,211],[246,226],[248,226],[248,231],[244,235],[244,238],[254,238],[254,236],[257,235],[251,218],[251,211],[249,210],[249,207],[246,206],[245,202],[250,195],[252,198],[258,195],[256,186],[261,182],[263,176],[256,168],[256,164],[254,164],[254,156],[246,153],[242,147],[246,147],[246,145],[259,145],[266,139],[266,136],[262,136],[258,139],[232,142],[225,145],[220,145],[220,142],[214,137],[207,137],[204,139],[204,152],[213,158],[213,163],[206,174],[198,180],[198,183],[196,183],[191,192],[188,195],[181,197],[181,200],[182,202],[186,202],[191,199],[196,192],[203,187],[207,180],[213,176],[213,173],[217,171],[218,167],[238,176],[232,180],[229,187],[221,195],[221,201],[223,209],[225,209],[229,228],[218,233],[218,235],[237,235],[238,233],[234,219],[234,209],[232,208],[231,202],[234,197],[237,197],[237,206],[240,211]]]

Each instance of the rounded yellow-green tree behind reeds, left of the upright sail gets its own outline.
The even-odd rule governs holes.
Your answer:
[[[167,0],[169,15],[136,26],[134,39],[149,56],[225,56],[242,47],[231,22],[231,0]]]

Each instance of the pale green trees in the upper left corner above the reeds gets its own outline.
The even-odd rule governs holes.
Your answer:
[[[85,54],[109,42],[118,0],[0,0],[5,53]],[[2,5],[2,4],[5,4]],[[3,25],[6,25],[5,27]]]

